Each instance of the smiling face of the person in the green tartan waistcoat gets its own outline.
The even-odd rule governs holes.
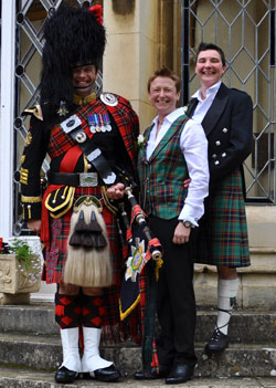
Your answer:
[[[167,76],[157,76],[149,87],[149,101],[159,116],[164,117],[177,108],[180,92],[177,92],[176,82]]]

